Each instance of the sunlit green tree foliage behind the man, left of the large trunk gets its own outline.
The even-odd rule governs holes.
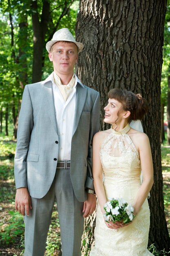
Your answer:
[[[43,9],[46,1],[38,0],[38,9],[33,9],[31,2],[31,0],[0,1],[0,110],[4,112],[8,107],[10,118],[14,123],[20,109],[24,86],[32,81],[33,40],[35,40],[32,15],[37,13],[41,24],[46,14],[46,10]],[[79,7],[78,0],[47,2],[50,5],[50,16],[46,20],[47,30],[44,35],[42,79],[46,79],[53,71],[45,49],[46,42],[51,40],[57,29],[62,27],[68,27],[75,34]]]

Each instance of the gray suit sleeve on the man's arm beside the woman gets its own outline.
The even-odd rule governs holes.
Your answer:
[[[93,175],[92,175],[92,144],[93,136],[99,131],[100,123],[100,94],[97,93],[97,97],[93,104],[91,110],[91,121],[90,121],[90,134],[89,134],[89,144],[88,144],[88,157],[87,157],[87,178],[85,188],[90,188],[94,190],[93,186]]]

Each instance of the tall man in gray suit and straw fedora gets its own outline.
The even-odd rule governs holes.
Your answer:
[[[42,256],[56,198],[62,256],[80,256],[84,218],[96,206],[92,139],[99,130],[99,93],[73,72],[83,44],[68,29],[55,32],[46,49],[54,72],[26,85],[22,97],[15,209],[24,216],[24,255]]]

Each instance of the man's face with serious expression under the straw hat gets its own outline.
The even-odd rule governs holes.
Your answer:
[[[49,59],[53,61],[54,72],[58,76],[72,75],[77,57],[77,46],[71,42],[59,41],[49,52]]]

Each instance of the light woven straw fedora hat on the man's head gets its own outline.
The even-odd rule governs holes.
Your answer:
[[[50,52],[53,44],[55,44],[58,41],[68,41],[75,43],[75,45],[77,45],[78,48],[78,53],[81,52],[84,47],[82,43],[76,42],[71,32],[64,27],[63,29],[59,29],[58,31],[56,31],[53,35],[52,40],[46,43],[47,52]]]

